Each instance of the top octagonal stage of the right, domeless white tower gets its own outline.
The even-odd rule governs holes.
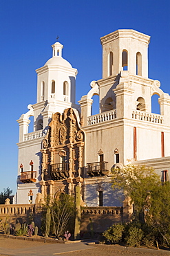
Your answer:
[[[103,46],[103,78],[123,70],[131,75],[148,77],[148,35],[132,29],[120,29],[100,40]]]

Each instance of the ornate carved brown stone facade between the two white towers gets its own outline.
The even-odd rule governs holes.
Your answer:
[[[84,138],[74,109],[52,115],[41,149],[43,197],[58,192],[74,194],[74,187],[82,185]]]

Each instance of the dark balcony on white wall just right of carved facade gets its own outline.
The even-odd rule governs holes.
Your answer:
[[[93,176],[103,176],[107,175],[109,173],[109,170],[107,168],[108,162],[95,162],[95,163],[87,163],[87,174],[91,177]]]

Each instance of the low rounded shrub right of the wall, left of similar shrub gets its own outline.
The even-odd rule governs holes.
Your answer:
[[[118,242],[122,240],[124,230],[125,226],[123,224],[114,224],[113,226],[105,230],[103,236],[106,237],[108,241],[111,241],[111,243],[118,244]]]

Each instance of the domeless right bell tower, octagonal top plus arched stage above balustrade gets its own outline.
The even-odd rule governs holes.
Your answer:
[[[145,83],[149,41],[149,35],[132,29],[116,30],[100,38],[103,46],[103,78],[98,80],[101,113],[116,109],[120,118],[129,117],[136,104],[141,110],[151,111],[150,89]]]

